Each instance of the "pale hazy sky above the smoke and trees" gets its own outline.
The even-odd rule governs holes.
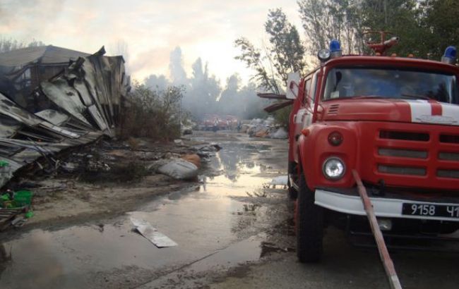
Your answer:
[[[169,53],[179,46],[187,73],[201,57],[222,81],[235,72],[247,79],[249,70],[234,60],[234,39],[266,40],[270,8],[282,8],[302,33],[296,0],[0,0],[0,37],[88,53],[105,45],[111,54],[121,40],[138,80],[153,73],[169,77]]]

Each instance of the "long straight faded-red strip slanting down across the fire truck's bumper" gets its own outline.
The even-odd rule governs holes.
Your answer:
[[[357,183],[357,189],[359,190],[359,195],[362,198],[364,209],[366,211],[366,216],[368,217],[371,231],[374,235],[374,240],[376,240],[376,245],[378,245],[379,257],[381,258],[381,262],[383,262],[384,271],[386,271],[386,276],[388,278],[389,285],[391,285],[392,289],[402,289],[402,285],[400,284],[397,272],[395,271],[395,267],[393,266],[391,256],[389,255],[389,252],[387,250],[386,242],[384,242],[383,233],[381,233],[378,221],[376,220],[376,215],[374,214],[371,200],[368,197],[368,194],[366,194],[366,189],[362,184],[362,180],[360,179],[359,173],[357,173],[357,171],[355,170],[352,170],[352,176],[354,176],[354,180]]]

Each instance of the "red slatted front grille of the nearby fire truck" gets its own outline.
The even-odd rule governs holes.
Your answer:
[[[429,128],[424,125],[400,125],[397,129],[376,130],[375,150],[369,156],[373,159],[374,175],[369,173],[369,179],[377,182],[383,178],[393,185],[459,190],[458,128],[431,128],[426,132]]]

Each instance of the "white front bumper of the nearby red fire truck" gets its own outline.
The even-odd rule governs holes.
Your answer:
[[[383,218],[401,218],[401,219],[418,219],[418,220],[436,220],[436,221],[454,221],[459,222],[459,218],[450,218],[445,216],[412,216],[402,214],[403,204],[433,204],[445,206],[458,206],[458,203],[448,202],[422,202],[412,199],[397,199],[389,197],[370,197],[371,204],[374,207],[374,213],[377,217]],[[330,192],[324,189],[316,189],[315,204],[338,211],[343,214],[365,216],[366,212],[359,195],[348,195],[339,192]]]

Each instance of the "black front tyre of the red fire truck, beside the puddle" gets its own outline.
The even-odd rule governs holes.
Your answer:
[[[323,210],[314,204],[314,192],[299,176],[297,199],[297,257],[302,263],[319,262],[323,252]]]

